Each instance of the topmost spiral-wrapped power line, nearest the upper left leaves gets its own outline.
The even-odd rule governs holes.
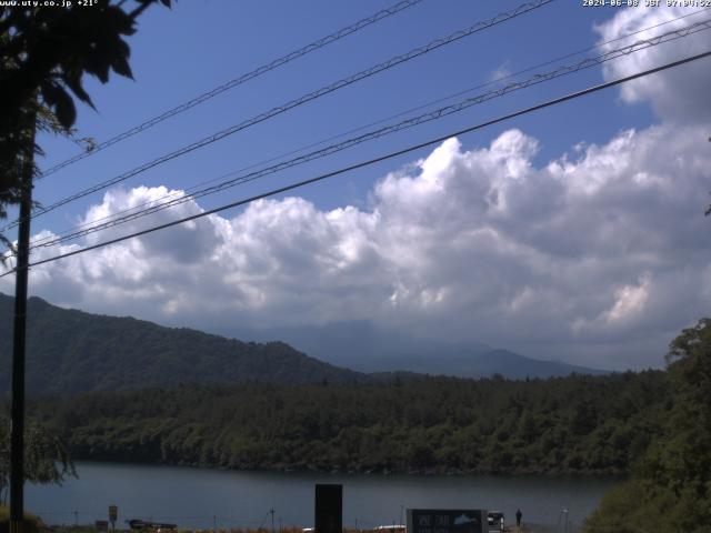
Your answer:
[[[109,147],[112,147],[113,144],[117,144],[118,142],[124,141],[126,139],[129,139],[130,137],[133,137],[138,133],[141,133],[152,127],[154,127],[156,124],[159,124],[160,122],[170,119],[171,117],[176,117],[177,114],[183,113],[184,111],[188,111],[189,109],[194,108],[196,105],[199,105],[201,103],[207,102],[208,100],[213,99],[214,97],[222,94],[226,91],[229,91],[230,89],[234,89],[238,86],[241,86],[242,83],[246,83],[250,80],[253,80],[254,78],[258,78],[262,74],[266,74],[267,72],[270,72],[274,69],[278,69],[279,67],[283,67],[284,64],[299,59],[303,56],[307,56],[308,53],[314,52],[317,50],[320,50],[336,41],[339,41],[340,39],[343,39],[344,37],[348,37],[352,33],[356,33],[360,30],[362,30],[363,28],[367,28],[371,24],[374,24],[375,22],[380,22],[383,19],[387,19],[388,17],[391,17],[393,14],[399,13],[400,11],[403,11],[408,8],[411,8],[418,3],[422,2],[422,0],[403,0],[401,2],[398,2],[389,8],[385,8],[383,10],[378,11],[374,14],[371,14],[370,17],[367,17],[364,19],[359,20],[358,22],[354,22],[350,26],[347,26],[344,28],[341,28],[338,31],[334,31],[333,33],[330,33],[326,37],[322,37],[321,39],[318,39],[313,42],[310,42],[309,44],[307,44],[306,47],[302,47],[298,50],[294,50],[292,52],[287,53],[286,56],[282,56],[280,58],[277,58],[272,61],[270,61],[269,63],[262,64],[258,68],[256,68],[254,70],[247,72],[244,74],[241,74],[238,78],[234,78],[226,83],[222,83],[221,86],[216,87],[214,89],[211,89],[207,92],[203,92],[202,94],[199,94],[198,97],[188,100],[187,102],[181,103],[180,105],[177,105],[172,109],[169,109],[168,111],[162,112],[161,114],[158,114],[151,119],[148,119],[143,122],[141,122],[140,124],[123,131],[121,133],[119,133],[118,135],[112,137],[111,139],[108,139],[103,142],[100,142],[99,144],[96,144],[94,147],[91,148],[90,151],[84,151],[82,153],[78,153],[77,155],[73,155],[72,158],[69,158],[49,169],[47,169],[44,172],[42,172],[40,175],[37,177],[37,179],[41,179],[41,178],[46,178],[50,174],[53,174],[54,172],[63,169],[64,167],[68,167],[72,163],[76,163],[77,161],[81,161],[82,159],[89,158],[90,155],[93,155],[102,150],[106,150]]]

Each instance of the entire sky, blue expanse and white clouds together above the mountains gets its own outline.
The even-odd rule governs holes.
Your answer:
[[[36,200],[51,204],[519,3],[423,0],[41,180]],[[130,39],[136,81],[113,78],[101,86],[87,80],[97,111],[79,110],[78,137],[106,140],[390,4],[206,0],[181,1],[170,11],[153,8]],[[184,190],[691,12],[553,1],[162,164],[109,197],[101,192],[39,217],[33,233],[63,231],[98,213],[156,200],[166,192],[158,188]],[[707,18],[689,17],[643,37]],[[708,33],[638,52],[607,70],[595,67],[514,92],[200,199],[177,213],[210,209],[704,51],[711,48]],[[704,187],[711,184],[700,163],[711,157],[700,142],[709,131],[708,71],[698,62],[642,80],[628,93],[607,90],[463,135],[459,143],[448,141],[437,151],[423,149],[303,188],[251,211],[221,213],[204,222],[209,228],[194,224],[52,263],[33,272],[30,291],[87,311],[197,328],[370,319],[412,335],[475,339],[573,363],[659,365],[674,332],[707,313],[709,303],[709,255],[690,237],[704,228],[704,194],[711,189]],[[691,105],[697,107],[690,112]],[[78,151],[63,139],[43,137],[41,144],[44,168]],[[662,158],[670,150],[675,159]],[[651,155],[641,158],[645,151]],[[662,158],[659,164],[652,164],[654,157]],[[489,208],[481,211],[475,202],[483,198]],[[429,209],[434,210],[431,220]],[[73,245],[102,239],[98,234]],[[679,248],[670,248],[672,242]],[[206,279],[212,282],[207,289]],[[690,280],[695,290],[687,286]],[[11,292],[8,278],[1,283],[0,290]],[[684,291],[694,293],[694,301],[681,312]],[[200,298],[204,304],[194,303]]]

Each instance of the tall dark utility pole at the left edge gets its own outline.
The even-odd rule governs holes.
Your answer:
[[[34,101],[31,105],[34,105]],[[24,511],[24,339],[27,279],[30,257],[30,215],[34,171],[34,111],[28,113],[27,145],[22,158],[18,258],[14,273],[14,333],[12,338],[12,412],[10,430],[10,533],[23,533]]]

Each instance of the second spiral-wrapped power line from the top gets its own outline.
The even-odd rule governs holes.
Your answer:
[[[429,53],[433,50],[437,50],[441,47],[444,47],[447,44],[451,44],[452,42],[459,41],[460,39],[463,39],[465,37],[472,36],[474,33],[478,33],[480,31],[483,31],[485,29],[492,28],[494,26],[498,26],[502,22],[505,22],[508,20],[511,20],[515,17],[519,17],[523,13],[527,13],[529,11],[532,11],[534,9],[541,8],[543,6],[545,6],[547,3],[550,3],[554,0],[535,0],[533,2],[525,2],[522,3],[521,6],[519,6],[515,9],[512,9],[510,11],[505,11],[502,13],[497,14],[495,17],[489,19],[489,20],[484,20],[484,21],[480,21],[474,23],[473,26],[470,26],[469,28],[464,28],[462,30],[458,30],[453,33],[450,33],[447,37],[443,38],[439,38],[435,39],[431,42],[429,42],[428,44],[423,46],[423,47],[419,47],[415,48],[413,50],[410,50],[407,53],[400,54],[400,56],[395,56],[394,58],[391,58],[382,63],[378,63],[374,67],[371,67],[369,69],[362,70],[356,74],[351,74],[348,78],[343,78],[339,81],[336,81],[334,83],[331,83],[329,86],[324,86],[320,89],[317,89],[316,91],[312,91],[308,94],[304,94],[296,100],[291,100],[288,103],[284,103],[282,105],[272,108],[270,111],[267,111],[264,113],[261,113],[257,117],[253,117],[251,119],[248,119],[243,122],[240,122],[239,124],[234,124],[230,128],[227,128],[222,131],[219,131],[212,135],[206,137],[199,141],[196,141],[191,144],[188,144],[186,147],[182,147],[173,152],[170,152],[168,154],[161,155],[160,158],[157,158],[152,161],[149,161],[147,163],[143,163],[132,170],[129,170],[122,174],[119,174],[114,178],[111,178],[109,180],[106,180],[101,183],[98,183],[93,187],[90,187],[88,189],[84,189],[83,191],[77,192],[70,197],[66,197],[62,200],[59,200],[54,203],[52,203],[51,205],[47,207],[47,208],[42,208],[41,211],[39,211],[38,213],[34,213],[31,215],[31,218],[37,218],[41,214],[44,214],[47,212],[53,211],[57,208],[60,208],[62,205],[66,205],[67,203],[73,202],[76,200],[79,200],[80,198],[87,197],[89,194],[92,194],[94,192],[101,191],[103,189],[107,189],[108,187],[114,185],[117,183],[120,183],[122,181],[128,180],[129,178],[132,178],[134,175],[138,175],[142,172],[146,172],[147,170],[152,169],[153,167],[158,167],[159,164],[166,163],[168,161],[171,161],[180,155],[184,155],[186,153],[190,153],[194,150],[198,150],[200,148],[207,147],[208,144],[212,144],[213,142],[217,142],[221,139],[224,139],[226,137],[232,135],[234,133],[237,133],[238,131],[241,131],[243,129],[247,129],[251,125],[258,124],[260,122],[263,122],[272,117],[276,117],[278,114],[281,114],[283,112],[287,112],[293,108],[297,108],[299,105],[302,105],[307,102],[310,102],[311,100],[316,100],[317,98],[323,97],[326,94],[329,94],[333,91],[337,91],[339,89],[342,89],[343,87],[348,87],[352,83],[356,83],[360,80],[363,80],[365,78],[370,78],[379,72],[382,72],[384,70],[389,70],[400,63],[403,63],[405,61],[410,61],[411,59],[418,58],[420,56],[423,56],[425,53]],[[11,224],[6,225],[4,228],[0,229],[0,232],[4,232],[6,230],[16,227],[19,223],[19,220],[16,220],[14,222],[12,222]]]

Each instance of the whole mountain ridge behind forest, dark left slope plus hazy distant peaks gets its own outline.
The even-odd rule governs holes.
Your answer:
[[[10,389],[12,312],[13,298],[0,293],[0,394]],[[132,316],[63,309],[32,296],[28,301],[27,388],[31,394],[71,395],[180,383],[364,383],[415,374],[544,379],[604,373],[537,361],[483,343],[409,339],[365,322],[353,330],[341,323],[302,332],[311,340],[306,349],[284,342],[289,339],[244,342]]]

